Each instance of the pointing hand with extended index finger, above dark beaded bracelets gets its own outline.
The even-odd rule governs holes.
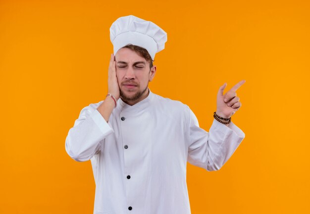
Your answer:
[[[236,97],[237,89],[244,84],[246,81],[241,80],[235,86],[233,86],[225,95],[223,95],[223,91],[226,88],[226,83],[222,85],[217,93],[217,101],[216,101],[216,114],[224,117],[229,118],[231,117],[240,107],[240,99]]]

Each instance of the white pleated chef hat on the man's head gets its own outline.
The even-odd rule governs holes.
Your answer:
[[[167,33],[151,21],[128,15],[112,23],[110,40],[114,55],[125,45],[133,44],[145,48],[154,60],[155,54],[165,48]]]

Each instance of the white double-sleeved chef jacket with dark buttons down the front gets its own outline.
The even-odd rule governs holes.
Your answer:
[[[151,90],[133,106],[118,99],[108,122],[102,102],[81,110],[65,141],[72,159],[91,160],[94,214],[191,214],[187,161],[218,170],[245,137],[215,119],[207,132],[187,105]]]

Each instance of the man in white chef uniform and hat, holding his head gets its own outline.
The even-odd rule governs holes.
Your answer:
[[[133,15],[110,27],[114,54],[108,68],[108,94],[84,107],[65,140],[76,161],[91,160],[96,182],[94,214],[190,214],[187,161],[219,170],[244,132],[231,120],[241,107],[236,90],[217,94],[209,132],[199,127],[187,105],[153,93],[155,54],[167,34]]]

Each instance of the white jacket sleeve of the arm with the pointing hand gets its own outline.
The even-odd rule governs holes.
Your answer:
[[[213,119],[209,132],[199,127],[197,117],[190,109],[188,162],[219,170],[245,138],[245,133],[232,121],[229,127]]]

